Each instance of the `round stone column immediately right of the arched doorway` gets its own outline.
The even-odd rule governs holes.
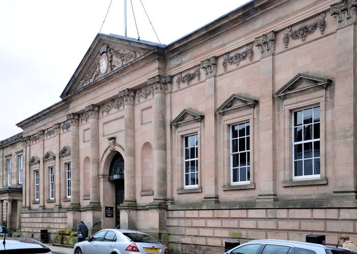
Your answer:
[[[124,89],[119,98],[124,105],[124,203],[135,204],[135,91]]]

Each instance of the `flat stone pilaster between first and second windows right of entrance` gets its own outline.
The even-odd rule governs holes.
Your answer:
[[[216,73],[217,73],[217,57],[213,56],[201,62],[201,69],[205,71],[205,140],[199,141],[199,143],[205,146],[205,160],[204,170],[199,169],[202,183],[204,182],[204,203],[218,203],[218,194],[216,186],[216,105],[215,105],[215,85],[216,85]],[[199,157],[199,161],[202,159]],[[200,180],[199,180],[200,182]]]

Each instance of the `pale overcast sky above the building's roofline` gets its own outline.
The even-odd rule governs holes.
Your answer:
[[[158,42],[140,0],[131,0],[141,40]],[[127,36],[138,39],[127,0]],[[142,0],[163,44],[249,0]],[[59,102],[60,94],[101,28],[111,0],[0,0],[0,140],[16,123]],[[101,29],[124,36],[124,0],[112,0]]]

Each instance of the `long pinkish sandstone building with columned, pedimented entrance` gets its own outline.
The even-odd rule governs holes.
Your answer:
[[[1,147],[3,186],[23,156],[22,233],[83,219],[195,253],[357,240],[356,8],[255,0],[169,45],[98,34],[62,101]]]

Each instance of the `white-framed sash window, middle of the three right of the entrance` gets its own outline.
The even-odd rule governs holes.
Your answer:
[[[231,184],[250,183],[250,122],[231,125]]]

